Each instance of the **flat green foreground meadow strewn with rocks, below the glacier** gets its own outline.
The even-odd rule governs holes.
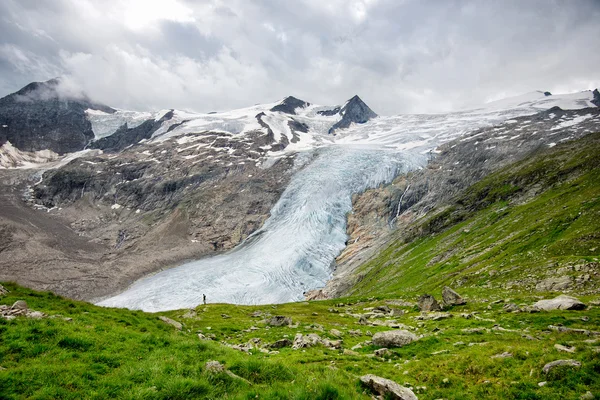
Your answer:
[[[420,399],[571,399],[587,390],[600,394],[600,341],[587,343],[588,336],[548,330],[548,325],[558,324],[598,330],[598,308],[512,314],[505,313],[502,304],[488,309],[481,301],[456,307],[450,319],[419,321],[415,307],[404,306],[400,308],[405,314],[393,319],[422,337],[383,358],[373,357],[376,347],[368,344],[356,350],[358,355],[321,345],[270,354],[255,348],[246,354],[225,344],[255,340],[266,345],[311,332],[334,339],[329,331],[335,328],[343,333],[343,348],[350,349],[390,329],[360,325],[354,316],[387,300],[354,297],[252,307],[209,304],[189,318],[184,317],[187,310],[149,314],[106,309],[14,284],[6,287],[11,293],[0,299],[1,304],[24,299],[32,309],[60,316],[0,319],[2,399],[368,399],[370,393],[358,383],[358,377],[367,373],[413,387]],[[531,304],[535,298],[522,295],[511,301]],[[264,317],[251,316],[255,311],[290,316],[297,326],[267,327]],[[473,315],[467,319],[461,314]],[[158,315],[182,322],[184,329],[176,331]],[[472,328],[484,330],[463,331]],[[349,330],[361,334],[352,336]],[[198,332],[214,335],[214,340],[199,340]],[[464,344],[457,345],[460,342]],[[560,353],[556,343],[574,345],[577,352]],[[513,357],[491,358],[505,351]],[[550,376],[542,373],[545,363],[561,358],[580,360],[583,366]],[[220,361],[249,383],[225,373],[208,373],[204,368],[208,360]],[[548,384],[539,387],[541,381]],[[416,389],[422,386],[426,389]]]

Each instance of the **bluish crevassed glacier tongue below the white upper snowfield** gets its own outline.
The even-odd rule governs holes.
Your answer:
[[[420,156],[381,148],[335,145],[292,178],[264,226],[232,251],[135,282],[100,305],[145,311],[209,302],[269,304],[303,299],[325,285],[344,249],[352,194],[423,164]]]

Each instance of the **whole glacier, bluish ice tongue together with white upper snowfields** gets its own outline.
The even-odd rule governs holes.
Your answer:
[[[346,215],[352,210],[354,193],[425,166],[429,152],[465,133],[554,106],[584,108],[590,104],[589,97],[585,92],[562,97],[536,92],[476,110],[378,117],[355,124],[335,137],[323,134],[329,121],[314,118],[318,108],[308,107],[296,118],[318,129],[311,129],[309,138],[301,142],[304,145],[286,150],[293,151],[297,162],[304,165],[262,228],[225,254],[142,278],[97,304],[154,312],[195,307],[202,303],[204,294],[211,303],[302,300],[304,292],[323,287],[331,278],[335,258],[346,245]],[[206,118],[185,115],[189,123],[168,134],[165,127],[154,140],[183,136],[199,127],[213,129],[219,119],[227,129],[235,122],[234,133],[243,134],[244,126],[255,124],[253,113],[257,110],[252,108],[248,117],[243,112]],[[279,118],[276,113],[265,112],[268,118]],[[177,112],[175,115],[178,122]],[[271,157],[283,156],[286,151]]]

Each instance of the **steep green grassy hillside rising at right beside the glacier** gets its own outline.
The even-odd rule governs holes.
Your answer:
[[[598,293],[599,260],[600,134],[593,134],[540,151],[434,210],[365,263],[348,294],[443,285],[509,294],[557,277],[567,290]]]

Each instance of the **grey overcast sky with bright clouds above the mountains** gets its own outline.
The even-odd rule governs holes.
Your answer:
[[[597,0],[0,0],[0,96],[68,76],[137,110],[447,111],[599,87],[599,21]]]

